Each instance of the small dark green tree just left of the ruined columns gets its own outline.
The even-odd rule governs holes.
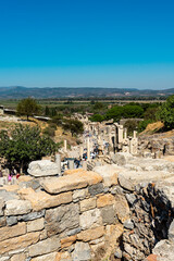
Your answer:
[[[84,132],[84,124],[78,120],[66,120],[62,127],[64,130],[70,130],[72,137],[74,134],[78,135],[83,134]]]

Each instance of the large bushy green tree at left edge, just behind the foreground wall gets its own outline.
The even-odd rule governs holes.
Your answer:
[[[0,157],[5,158],[11,165],[27,167],[34,160],[40,160],[57,151],[55,142],[48,136],[40,136],[38,127],[17,125],[10,135],[0,132]]]

